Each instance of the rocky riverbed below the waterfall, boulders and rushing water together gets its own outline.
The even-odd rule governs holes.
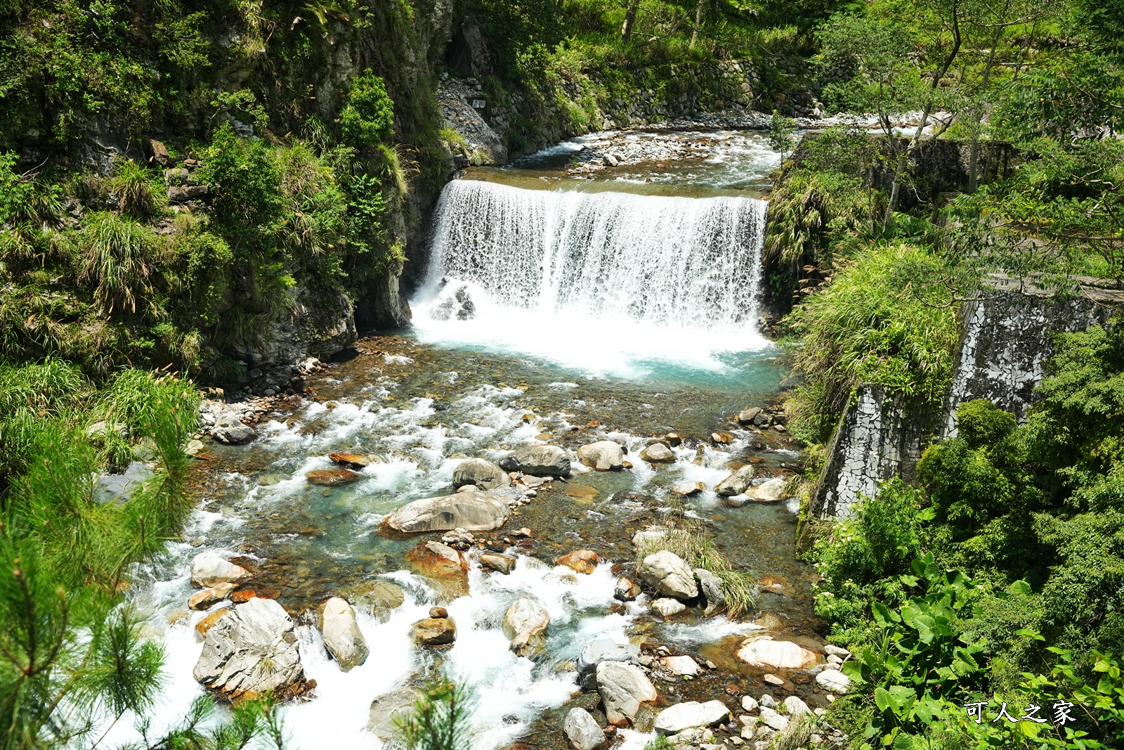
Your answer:
[[[142,572],[176,670],[157,720],[203,689],[279,689],[294,747],[325,723],[379,747],[439,665],[477,695],[474,747],[764,747],[846,689],[791,554],[776,351],[709,382],[401,336],[348,356],[309,363],[305,396],[205,404],[254,435],[200,433],[202,506]],[[676,517],[756,577],[751,612],[724,614],[681,559],[637,560]]]

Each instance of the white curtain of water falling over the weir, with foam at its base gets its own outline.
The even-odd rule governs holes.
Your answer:
[[[456,180],[437,205],[423,341],[635,374],[761,349],[767,204]]]

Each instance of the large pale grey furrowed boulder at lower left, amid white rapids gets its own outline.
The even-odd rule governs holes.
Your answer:
[[[274,599],[235,606],[207,632],[193,675],[230,699],[299,688],[305,668],[292,618]]]

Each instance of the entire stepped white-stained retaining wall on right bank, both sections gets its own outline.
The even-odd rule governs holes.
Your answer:
[[[859,496],[873,496],[880,481],[900,475],[913,482],[930,439],[957,434],[955,412],[964,401],[987,398],[1024,419],[1045,377],[1052,335],[1103,324],[1124,309],[1124,291],[1097,279],[1078,281],[1076,293],[1059,296],[996,275],[992,291],[964,304],[952,382],[936,413],[860,386],[827,446],[808,517],[847,518]]]

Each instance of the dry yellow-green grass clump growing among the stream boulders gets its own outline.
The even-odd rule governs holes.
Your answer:
[[[637,562],[655,552],[671,552],[691,568],[703,568],[718,577],[726,598],[726,612],[732,617],[741,617],[753,609],[756,580],[747,572],[734,570],[733,563],[706,535],[700,521],[687,516],[682,507],[673,507],[659,530],[661,535],[645,536],[636,545]]]

